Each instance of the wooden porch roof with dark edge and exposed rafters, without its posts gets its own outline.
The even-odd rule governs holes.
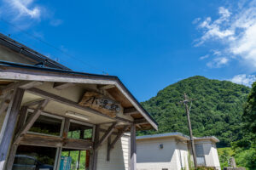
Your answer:
[[[125,88],[124,84],[119,80],[118,77],[0,61],[1,88],[3,90],[8,89],[11,87],[11,83],[20,81],[31,82],[29,85],[33,85],[34,83],[41,85],[39,87],[42,88],[34,88],[34,86],[31,86],[32,88],[30,88],[29,85],[26,85],[26,92],[29,94],[35,94],[58,103],[80,108],[82,110],[86,109],[78,105],[78,103],[81,95],[86,90],[95,90],[99,92],[104,91],[113,99],[118,101],[124,108],[124,111],[123,115],[112,118],[101,114],[98,111],[93,111],[90,108],[87,108],[88,111],[90,110],[90,112],[94,113],[95,115],[108,118],[108,121],[106,120],[96,124],[119,121],[126,123],[134,122],[139,125],[137,128],[138,130],[148,130],[152,128],[157,130],[158,128],[157,122],[155,122],[148,112],[143,109],[137,99],[135,99],[129,90]],[[42,84],[44,84],[44,86]],[[60,90],[63,90],[66,93],[68,93],[69,90],[75,90],[77,91],[76,93],[80,95],[79,99],[70,99],[69,96],[65,97],[65,95],[62,95],[63,97],[61,98],[58,96]],[[49,91],[52,91],[52,93]]]

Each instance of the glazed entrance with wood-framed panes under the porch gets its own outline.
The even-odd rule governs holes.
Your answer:
[[[26,114],[26,120],[32,111]],[[13,170],[87,170],[90,164],[90,150],[85,141],[93,139],[94,126],[85,122],[68,119],[66,138],[63,137],[63,116],[42,113],[22,140],[15,154]],[[26,123],[26,122],[24,122]],[[38,140],[40,138],[42,140]],[[66,140],[65,140],[66,139]],[[70,147],[66,144],[69,142]],[[23,143],[22,143],[23,142]],[[71,142],[73,144],[71,144]],[[74,144],[78,144],[74,146]],[[79,145],[81,144],[81,145]],[[84,148],[84,150],[83,150]]]

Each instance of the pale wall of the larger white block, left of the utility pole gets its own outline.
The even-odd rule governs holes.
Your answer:
[[[160,149],[163,144],[163,149]],[[137,170],[180,169],[186,155],[186,145],[175,139],[137,140]],[[179,150],[177,150],[177,148]]]

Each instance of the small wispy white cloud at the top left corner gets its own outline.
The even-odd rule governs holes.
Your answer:
[[[18,14],[18,18],[29,16],[32,19],[38,19],[41,15],[41,8],[34,5],[33,0],[4,0],[13,13]]]

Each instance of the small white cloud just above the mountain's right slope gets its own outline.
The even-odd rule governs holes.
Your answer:
[[[251,87],[253,82],[256,82],[256,76],[241,74],[241,75],[236,75],[235,77],[231,78],[229,81]]]

